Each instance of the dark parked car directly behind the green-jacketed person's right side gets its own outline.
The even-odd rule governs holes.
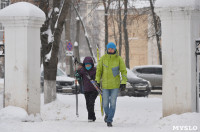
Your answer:
[[[148,96],[151,93],[150,82],[137,77],[130,69],[127,68],[127,85],[126,90],[121,95],[128,96]]]

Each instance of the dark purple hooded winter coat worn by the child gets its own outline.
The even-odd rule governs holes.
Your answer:
[[[90,70],[86,70],[85,63],[91,63],[92,68]],[[83,61],[83,68],[80,69],[79,74],[82,76],[84,92],[96,91],[95,87],[86,76],[87,74],[89,74],[91,79],[95,80],[96,68],[94,67],[94,62],[91,57],[85,57]]]

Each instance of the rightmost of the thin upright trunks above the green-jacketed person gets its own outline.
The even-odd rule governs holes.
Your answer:
[[[129,42],[128,42],[128,31],[127,31],[127,9],[128,0],[124,0],[124,20],[123,20],[123,27],[124,27],[124,41],[125,41],[125,55],[126,55],[126,67],[130,68],[129,66]]]

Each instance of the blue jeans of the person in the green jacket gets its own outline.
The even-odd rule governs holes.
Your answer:
[[[119,88],[103,89],[103,108],[107,116],[107,122],[113,122]]]

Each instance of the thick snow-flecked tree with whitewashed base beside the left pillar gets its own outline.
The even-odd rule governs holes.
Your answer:
[[[46,21],[41,28],[45,104],[56,99],[57,55],[70,2],[70,0],[40,0],[39,7],[46,15]]]

